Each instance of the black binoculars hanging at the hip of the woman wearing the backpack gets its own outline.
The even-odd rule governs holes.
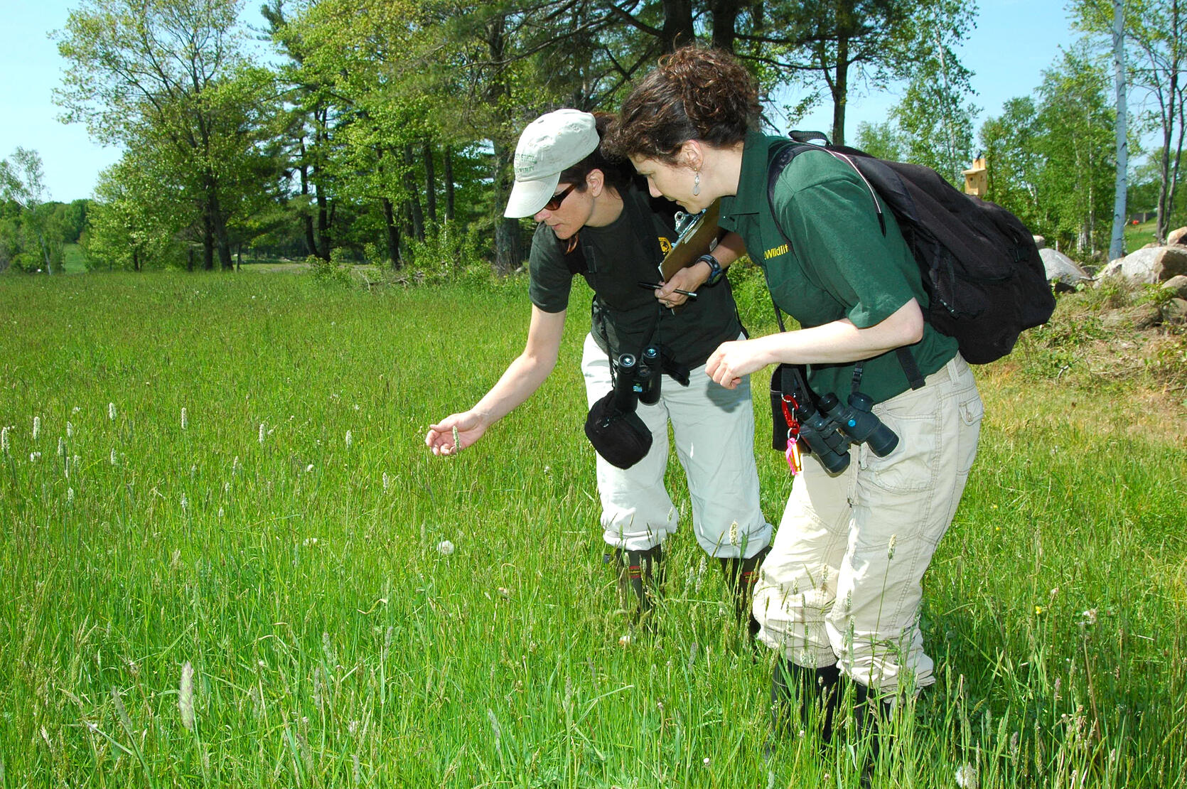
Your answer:
[[[899,446],[899,435],[871,411],[868,395],[855,392],[843,406],[837,395],[820,397],[819,409],[807,403],[800,419],[800,438],[829,473],[849,467],[849,445],[864,441],[870,452],[884,458]]]

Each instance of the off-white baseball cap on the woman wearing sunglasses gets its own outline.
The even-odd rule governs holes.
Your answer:
[[[594,153],[597,123],[579,109],[558,109],[535,119],[515,146],[515,185],[503,216],[532,216],[557,192],[560,173]]]

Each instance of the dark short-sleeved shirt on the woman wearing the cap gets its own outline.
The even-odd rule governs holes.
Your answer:
[[[737,339],[742,332],[729,281],[699,288],[697,298],[688,299],[679,312],[662,307],[654,293],[639,282],[659,281],[659,262],[671,249],[675,233],[636,189],[623,193],[622,204],[622,214],[614,222],[602,228],[585,227],[578,234],[589,269],[583,275],[595,293],[594,339],[615,358],[620,354],[637,355],[650,341],[675,362],[699,367],[718,345]],[[544,312],[569,307],[573,273],[565,246],[546,224],[537,225],[528,257],[528,295]]]

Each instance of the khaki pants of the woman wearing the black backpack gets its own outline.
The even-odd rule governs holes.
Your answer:
[[[919,631],[920,581],[960,502],[984,412],[958,355],[874,413],[899,446],[884,458],[853,446],[836,477],[805,457],[754,616],[760,640],[794,663],[838,663],[869,687],[918,688],[935,681]]]

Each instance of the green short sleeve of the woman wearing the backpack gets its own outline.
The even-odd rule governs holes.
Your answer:
[[[798,242],[807,275],[843,305],[858,329],[922,295],[918,266],[894,216],[882,206],[883,236],[874,201],[856,173],[852,179],[839,173],[804,185],[781,206],[780,222]]]

